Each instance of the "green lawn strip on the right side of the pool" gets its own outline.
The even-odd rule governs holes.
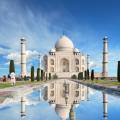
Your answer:
[[[83,80],[85,83],[101,84],[105,86],[120,86],[120,82],[110,80]]]

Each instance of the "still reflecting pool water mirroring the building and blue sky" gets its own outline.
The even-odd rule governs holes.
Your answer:
[[[0,120],[120,120],[120,97],[57,80],[6,98]]]

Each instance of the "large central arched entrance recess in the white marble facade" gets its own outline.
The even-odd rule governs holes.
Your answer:
[[[66,58],[61,59],[60,61],[61,72],[69,72],[69,60]]]

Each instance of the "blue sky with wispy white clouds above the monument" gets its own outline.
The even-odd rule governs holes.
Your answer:
[[[0,0],[0,75],[14,59],[20,73],[20,38],[27,39],[27,69],[37,54],[54,47],[63,32],[101,72],[103,37],[109,38],[109,75],[116,75],[120,35],[119,0]]]

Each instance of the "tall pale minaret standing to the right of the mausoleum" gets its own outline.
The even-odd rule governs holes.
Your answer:
[[[108,37],[105,36],[103,38],[104,46],[103,46],[103,70],[102,70],[102,77],[108,77]]]

